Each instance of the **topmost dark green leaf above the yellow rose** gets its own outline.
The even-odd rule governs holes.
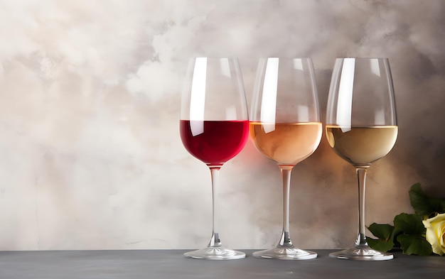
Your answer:
[[[445,199],[428,197],[420,183],[412,185],[409,190],[409,202],[411,202],[414,212],[419,215],[429,216],[434,212],[444,212],[445,209]]]

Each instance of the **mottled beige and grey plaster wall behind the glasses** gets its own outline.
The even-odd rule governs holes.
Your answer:
[[[445,196],[445,2],[1,1],[0,249],[198,248],[210,173],[178,134],[193,56],[313,58],[322,117],[337,57],[388,57],[400,133],[368,173],[366,223],[412,212],[415,182]],[[352,166],[318,150],[294,168],[301,248],[355,240]],[[267,248],[282,222],[279,169],[248,143],[220,171],[220,236]]]

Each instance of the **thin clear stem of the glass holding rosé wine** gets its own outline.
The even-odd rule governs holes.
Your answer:
[[[289,194],[291,189],[291,171],[294,166],[280,165],[279,168],[282,171],[283,182],[283,232],[278,245],[291,247],[293,244],[289,235]]]

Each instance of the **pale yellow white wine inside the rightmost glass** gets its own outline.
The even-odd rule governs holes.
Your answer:
[[[353,165],[370,165],[389,153],[397,139],[397,126],[326,126],[328,143]]]

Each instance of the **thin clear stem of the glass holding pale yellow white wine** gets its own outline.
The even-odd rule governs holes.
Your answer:
[[[358,235],[355,246],[359,248],[369,247],[365,232],[365,187],[368,168],[369,165],[355,167],[358,177]]]

